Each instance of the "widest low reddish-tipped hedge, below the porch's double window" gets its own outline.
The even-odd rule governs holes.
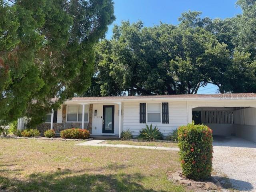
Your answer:
[[[87,129],[65,129],[60,131],[60,137],[64,139],[88,139],[90,136],[90,132]]]

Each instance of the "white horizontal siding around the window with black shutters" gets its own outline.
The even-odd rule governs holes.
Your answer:
[[[159,103],[168,101],[159,101]],[[154,102],[156,103],[156,102]],[[169,103],[169,124],[152,123],[167,136],[172,130],[177,129],[187,122],[187,105],[186,102],[168,102]],[[161,114],[162,116],[162,114]],[[146,123],[150,125],[150,123]],[[124,102],[124,124],[123,130],[130,129],[133,135],[139,135],[140,130],[146,127],[145,123],[140,123],[140,102]]]

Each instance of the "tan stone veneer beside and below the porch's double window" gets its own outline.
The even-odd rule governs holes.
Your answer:
[[[82,123],[66,123],[66,110],[67,105],[62,105],[62,123],[53,123],[53,129],[56,133],[64,129],[69,129],[73,127],[82,128]],[[36,127],[41,133],[44,133],[46,130],[51,129],[50,123],[42,123]],[[89,123],[84,123],[84,129],[88,129],[92,133],[92,104],[89,107]]]

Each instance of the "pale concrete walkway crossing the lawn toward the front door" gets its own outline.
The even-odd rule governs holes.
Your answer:
[[[78,143],[79,146],[107,146],[107,147],[118,147],[118,148],[144,148],[153,150],[169,150],[179,151],[177,147],[160,147],[160,146],[140,146],[140,145],[128,145],[128,144],[101,144],[105,140],[91,140],[84,143]]]

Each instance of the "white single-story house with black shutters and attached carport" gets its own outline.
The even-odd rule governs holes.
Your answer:
[[[167,136],[193,120],[210,127],[213,135],[236,135],[256,142],[256,94],[74,97],[49,113],[38,129],[58,133],[80,127],[91,135],[120,138],[122,131],[130,129],[136,136],[152,124]]]

